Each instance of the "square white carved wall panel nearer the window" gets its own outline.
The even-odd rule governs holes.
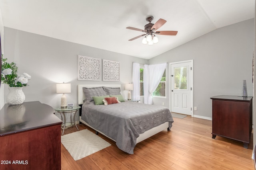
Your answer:
[[[103,81],[120,81],[120,62],[103,60]]]

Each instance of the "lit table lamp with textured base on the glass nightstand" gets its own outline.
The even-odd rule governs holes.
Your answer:
[[[66,109],[67,108],[67,98],[65,93],[70,93],[71,92],[71,84],[70,83],[60,83],[56,84],[56,93],[63,93],[61,97],[61,103],[60,103],[60,108]]]

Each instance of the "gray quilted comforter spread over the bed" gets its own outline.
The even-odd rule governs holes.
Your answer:
[[[173,119],[170,110],[164,106],[137,102],[121,102],[111,105],[82,106],[82,120],[116,141],[119,149],[133,154],[137,137],[145,131]]]

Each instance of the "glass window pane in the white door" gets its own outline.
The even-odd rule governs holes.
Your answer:
[[[187,90],[187,67],[174,68],[174,89]]]

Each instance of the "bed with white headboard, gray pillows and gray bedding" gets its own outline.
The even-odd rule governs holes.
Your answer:
[[[173,119],[167,107],[124,101],[120,89],[120,84],[78,85],[80,122],[115,141],[124,152],[134,154],[137,143],[164,129],[169,131]],[[121,102],[99,104],[102,96],[119,97]]]

